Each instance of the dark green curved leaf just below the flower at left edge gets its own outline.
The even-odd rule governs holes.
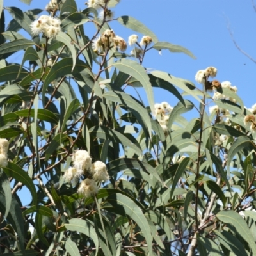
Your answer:
[[[12,162],[8,162],[8,165],[6,167],[3,167],[3,170],[8,177],[12,177],[18,180],[29,189],[33,198],[33,204],[36,204],[37,195],[35,185],[33,184],[33,181],[29,177],[28,173],[25,172],[22,168],[20,168],[20,166]]]

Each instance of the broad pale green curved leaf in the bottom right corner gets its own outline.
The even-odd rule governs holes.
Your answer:
[[[253,235],[250,232],[246,221],[241,215],[232,210],[223,210],[218,212],[218,214],[216,214],[216,217],[224,223],[231,224],[236,229],[236,233],[239,236],[243,237],[244,241],[246,241],[246,243],[248,243],[250,248],[252,249],[253,254],[256,255],[256,244],[253,239]]]

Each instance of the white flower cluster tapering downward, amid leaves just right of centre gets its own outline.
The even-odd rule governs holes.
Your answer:
[[[163,128],[164,134],[168,134],[168,120],[172,109],[173,108],[167,102],[155,104],[154,116]]]

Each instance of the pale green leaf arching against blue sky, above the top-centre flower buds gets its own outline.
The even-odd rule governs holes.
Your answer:
[[[141,33],[145,36],[150,36],[153,40],[153,42],[157,42],[157,36],[150,31],[143,23],[140,21],[130,17],[130,16],[121,16],[117,18],[117,21],[120,22],[120,24],[124,25],[125,27],[132,29],[133,31],[136,31],[138,33]]]

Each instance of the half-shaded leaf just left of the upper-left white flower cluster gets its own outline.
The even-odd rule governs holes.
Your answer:
[[[32,20],[29,18],[29,15],[26,12],[22,12],[22,10],[17,7],[6,7],[5,9],[8,10],[13,19],[33,37],[30,27]]]

